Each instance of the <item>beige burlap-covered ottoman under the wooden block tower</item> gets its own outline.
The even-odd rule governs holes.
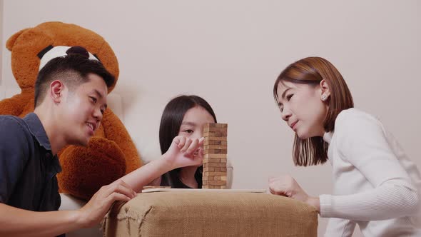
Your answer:
[[[318,214],[268,193],[168,191],[117,203],[104,236],[317,236]]]

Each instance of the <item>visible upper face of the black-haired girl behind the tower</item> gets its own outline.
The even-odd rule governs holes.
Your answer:
[[[189,138],[201,138],[205,123],[215,123],[213,116],[201,106],[195,106],[184,114],[178,135]]]

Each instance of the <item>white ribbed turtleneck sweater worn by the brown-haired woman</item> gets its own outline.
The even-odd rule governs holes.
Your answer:
[[[421,176],[382,123],[357,109],[340,112],[325,133],[333,195],[320,196],[325,236],[421,236]],[[421,143],[420,143],[421,145]]]

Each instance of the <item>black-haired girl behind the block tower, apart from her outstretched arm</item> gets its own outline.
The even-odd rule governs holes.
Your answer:
[[[216,123],[215,113],[208,102],[199,96],[178,96],[166,105],[159,128],[161,152],[166,153],[176,136],[201,138],[205,123]],[[203,158],[199,148],[195,155]],[[151,185],[171,188],[202,188],[201,164],[176,168],[156,179]]]

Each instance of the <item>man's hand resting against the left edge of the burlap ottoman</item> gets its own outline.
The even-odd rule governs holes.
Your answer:
[[[84,228],[100,223],[115,201],[130,201],[137,193],[121,180],[102,186],[80,211],[80,221]]]

